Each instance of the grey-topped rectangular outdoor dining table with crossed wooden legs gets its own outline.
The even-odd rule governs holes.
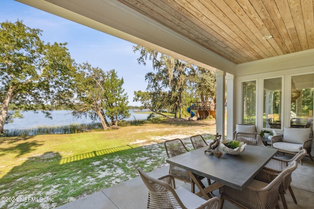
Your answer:
[[[277,149],[270,147],[246,145],[245,151],[239,155],[229,155],[217,148],[223,152],[223,155],[218,158],[205,152],[208,147],[195,149],[166,160],[167,163],[186,169],[200,189],[196,194],[204,196],[207,200],[211,198],[211,191],[223,185],[243,189],[278,152]],[[200,177],[215,182],[206,187]]]

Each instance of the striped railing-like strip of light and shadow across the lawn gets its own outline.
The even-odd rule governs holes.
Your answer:
[[[93,151],[93,152],[88,152],[88,153],[83,153],[67,158],[62,158],[60,160],[59,164],[65,164],[65,163],[72,163],[75,161],[80,161],[88,158],[93,158],[96,156],[102,156],[105,154],[113,153],[113,152],[118,152],[118,151],[123,151],[123,150],[128,150],[128,149],[133,149],[139,147],[138,145],[126,145],[126,146],[120,146],[120,147],[114,147],[110,149],[103,149],[103,150],[98,150],[98,151]]]

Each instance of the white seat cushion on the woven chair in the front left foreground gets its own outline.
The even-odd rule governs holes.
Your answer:
[[[175,189],[180,200],[186,208],[194,209],[200,205],[202,205],[206,200],[193,194],[192,192],[186,190],[183,187],[178,187]]]

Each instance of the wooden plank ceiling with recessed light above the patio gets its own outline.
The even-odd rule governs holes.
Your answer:
[[[118,1],[235,64],[314,48],[314,0]]]

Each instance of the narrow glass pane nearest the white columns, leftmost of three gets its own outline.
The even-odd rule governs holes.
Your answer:
[[[256,121],[256,81],[242,82],[242,124]]]

